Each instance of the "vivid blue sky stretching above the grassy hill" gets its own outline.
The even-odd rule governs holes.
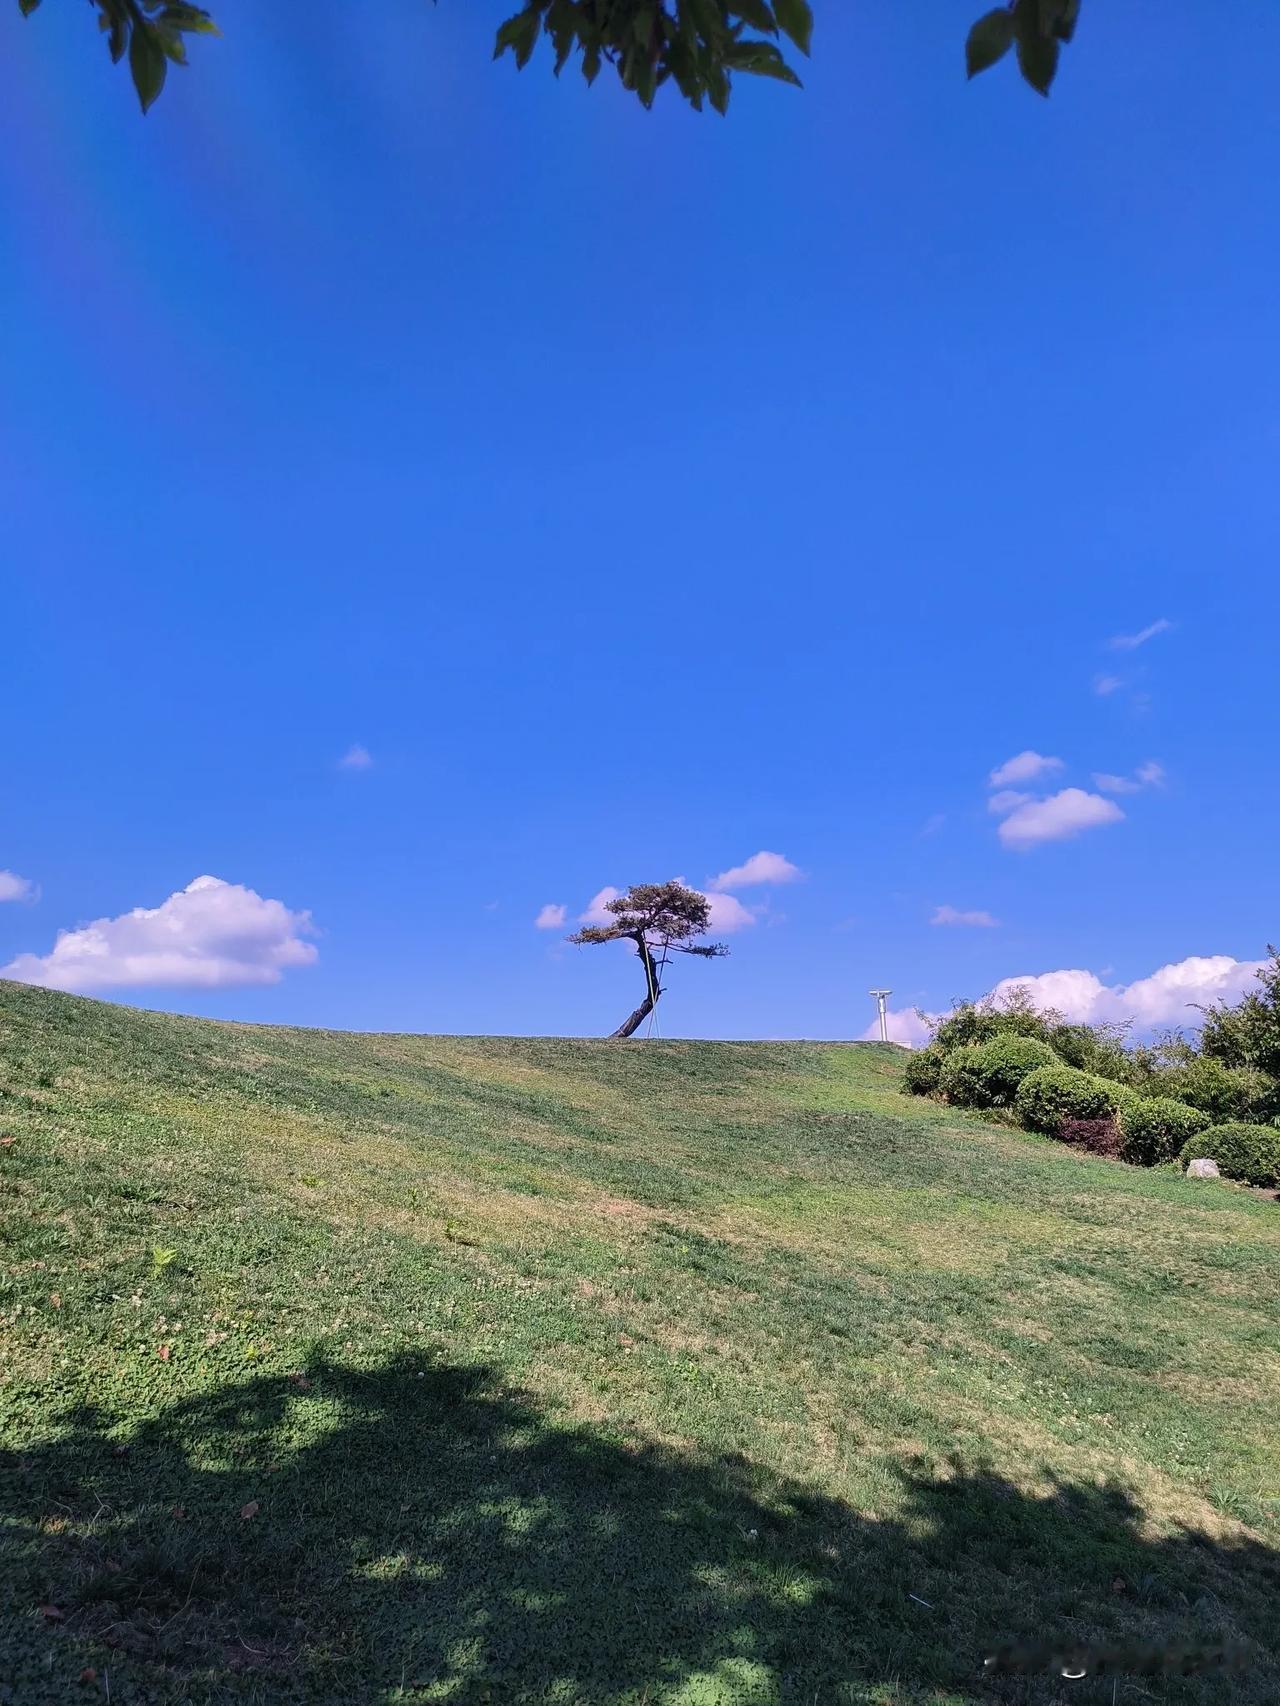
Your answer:
[[[667,1032],[1231,981],[1278,933],[1280,12],[1087,7],[1043,102],[966,85],[964,7],[821,0],[806,90],[722,121],[492,65],[502,10],[225,0],[145,121],[82,7],[0,14],[0,964],[213,875],[65,981],[592,1032],[637,969],[539,911],[771,851]],[[1010,833],[1022,752],[1033,821],[1111,809]]]

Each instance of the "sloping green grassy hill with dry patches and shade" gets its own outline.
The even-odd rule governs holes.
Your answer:
[[[1280,1206],[899,1059],[0,984],[0,1701],[1273,1703]]]

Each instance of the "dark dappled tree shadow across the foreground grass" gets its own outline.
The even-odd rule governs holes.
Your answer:
[[[15,1706],[77,1697],[85,1665],[114,1703],[1280,1697],[1258,1542],[1143,1539],[1121,1491],[959,1465],[905,1476],[887,1520],[413,1355],[227,1385],[128,1436],[82,1411],[0,1454],[0,1488]],[[983,1674],[1007,1643],[1048,1645]],[[1053,1653],[1082,1643],[1225,1643],[1237,1668],[1130,1653],[1065,1682]]]

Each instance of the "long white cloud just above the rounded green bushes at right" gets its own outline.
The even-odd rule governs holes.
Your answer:
[[[1000,1000],[1021,988],[1036,1007],[1055,1007],[1079,1024],[1132,1020],[1138,1030],[1150,1030],[1195,1025],[1200,1022],[1196,1007],[1237,1001],[1263,964],[1229,954],[1191,955],[1128,984],[1106,984],[1091,971],[1046,971],[1034,978],[1004,978],[992,995]]]

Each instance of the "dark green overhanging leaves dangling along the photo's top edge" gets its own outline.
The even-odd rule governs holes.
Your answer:
[[[24,17],[41,0],[17,0]],[[145,113],[164,89],[171,65],[186,65],[188,36],[220,34],[213,17],[177,0],[90,0],[111,58],[128,56]],[[1075,32],[1080,0],[1009,0],[969,29],[969,77],[1014,49],[1026,82],[1046,96],[1063,43]],[[729,107],[736,75],[800,84],[787,53],[809,55],[809,0],[527,0],[498,27],[493,56],[510,53],[524,68],[539,41],[555,55],[556,77],[570,61],[592,84],[611,67],[621,85],[652,106],[671,82],[698,111]]]

